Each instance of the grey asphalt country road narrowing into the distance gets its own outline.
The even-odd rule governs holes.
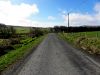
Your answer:
[[[51,33],[17,75],[100,75],[100,66],[87,54]]]

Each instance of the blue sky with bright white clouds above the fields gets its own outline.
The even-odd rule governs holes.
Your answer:
[[[100,25],[100,0],[0,0],[0,23],[52,27]]]

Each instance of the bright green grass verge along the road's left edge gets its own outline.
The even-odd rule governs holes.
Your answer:
[[[0,71],[3,71],[8,66],[13,64],[14,62],[22,59],[26,56],[33,47],[36,47],[44,38],[45,36],[37,37],[35,40],[31,41],[28,44],[23,45],[22,47],[12,50],[7,54],[0,57]]]

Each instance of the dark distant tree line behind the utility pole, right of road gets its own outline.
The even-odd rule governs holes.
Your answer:
[[[85,31],[100,31],[100,26],[80,26],[80,27],[66,27],[54,26],[54,32],[85,32]]]

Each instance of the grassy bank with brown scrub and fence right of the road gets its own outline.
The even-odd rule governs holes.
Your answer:
[[[59,33],[60,38],[68,41],[90,54],[100,54],[100,32]]]

